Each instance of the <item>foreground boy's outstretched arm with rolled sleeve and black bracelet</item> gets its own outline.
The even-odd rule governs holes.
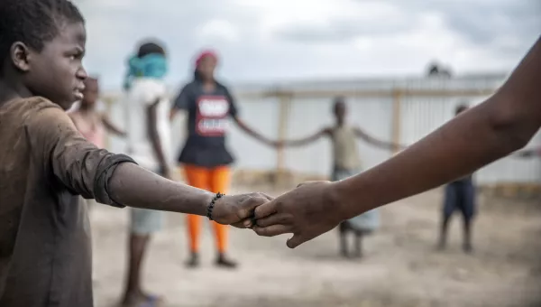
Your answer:
[[[206,215],[215,194],[167,180],[139,167],[128,156],[96,148],[57,105],[44,101],[36,108],[26,129],[32,135],[32,161],[42,161],[50,173],[43,184],[120,208]],[[271,197],[261,193],[224,196],[215,201],[212,218],[250,227],[253,209],[268,200]]]

